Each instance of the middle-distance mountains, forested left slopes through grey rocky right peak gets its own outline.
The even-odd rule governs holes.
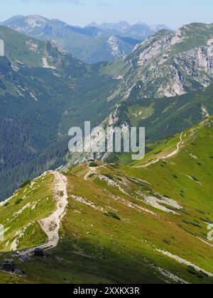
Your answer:
[[[157,141],[212,114],[212,25],[160,31],[124,59],[96,65],[3,26],[0,38],[1,199],[29,177],[79,160],[67,152],[71,126],[97,126],[116,111],[115,123],[143,124]]]

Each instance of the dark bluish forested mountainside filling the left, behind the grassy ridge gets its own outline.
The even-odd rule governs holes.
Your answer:
[[[0,38],[6,53],[0,57],[0,198],[5,199],[29,176],[63,163],[71,126],[107,117],[115,102],[106,99],[116,80],[97,75],[53,43],[2,26]]]

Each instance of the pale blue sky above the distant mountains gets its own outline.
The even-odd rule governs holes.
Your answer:
[[[213,23],[212,0],[0,0],[0,4],[0,21],[17,14],[40,14],[79,26],[121,20],[165,23],[171,28]]]

